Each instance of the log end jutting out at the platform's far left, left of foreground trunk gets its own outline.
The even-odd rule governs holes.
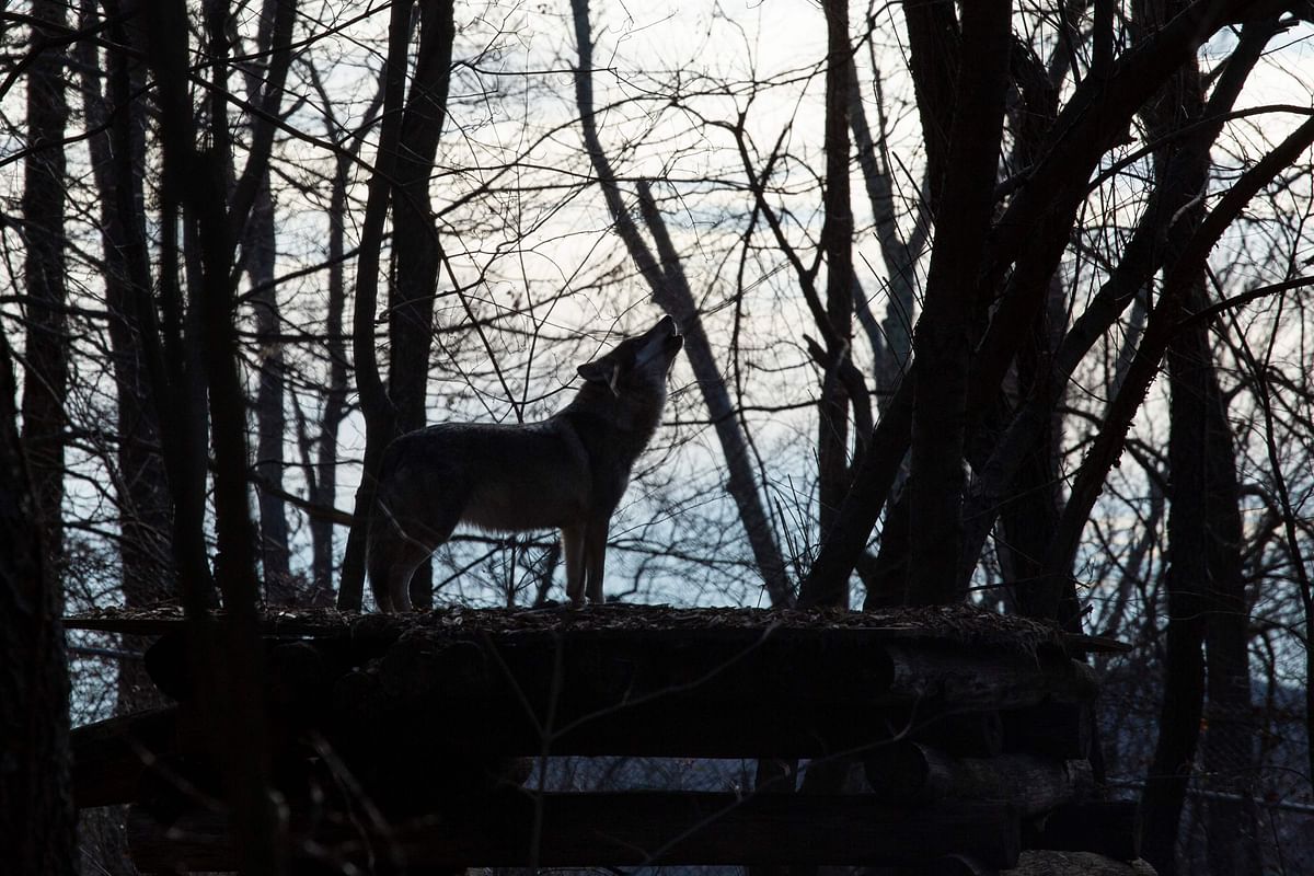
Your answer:
[[[162,707],[74,728],[74,805],[109,806],[137,799],[148,764],[173,746],[177,713]]]

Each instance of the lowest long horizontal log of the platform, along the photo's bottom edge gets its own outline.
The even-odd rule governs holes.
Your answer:
[[[289,855],[407,867],[581,867],[656,864],[891,865],[966,854],[992,867],[1017,862],[1018,817],[1003,804],[892,808],[853,795],[516,793],[445,818],[361,835],[360,825],[293,818]],[[129,846],[143,871],[235,865],[222,816],[193,810],[171,825],[129,813]]]

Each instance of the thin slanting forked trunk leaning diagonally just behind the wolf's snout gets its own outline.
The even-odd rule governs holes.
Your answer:
[[[721,453],[725,457],[725,468],[729,474],[727,491],[738,508],[740,521],[744,524],[753,558],[766,584],[771,604],[792,605],[794,587],[790,583],[784,558],[781,556],[770,517],[758,493],[748,440],[740,428],[733,402],[725,387],[725,380],[721,377],[712,347],[703,331],[694,293],[679,264],[679,256],[671,244],[652,193],[644,184],[639,190],[640,210],[644,215],[644,225],[653,235],[657,253],[654,255],[649,248],[625,208],[620,186],[616,183],[616,173],[602,148],[593,109],[593,34],[589,24],[589,3],[587,0],[572,0],[570,8],[574,14],[576,47],[579,54],[579,64],[576,67],[576,102],[579,108],[579,126],[585,148],[589,151],[594,172],[598,175],[598,183],[602,185],[602,193],[607,201],[607,210],[616,225],[616,234],[624,242],[631,259],[635,260],[649,289],[652,289],[653,301],[675,319],[679,330],[685,334],[685,355],[694,369],[694,377],[703,393],[703,403],[707,406],[707,412],[721,445]]]

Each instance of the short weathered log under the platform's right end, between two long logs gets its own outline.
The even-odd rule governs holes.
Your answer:
[[[895,742],[865,758],[871,792],[891,801],[997,800],[1024,816],[1079,800],[1093,787],[1085,760],[1028,754],[953,758],[917,742]]]

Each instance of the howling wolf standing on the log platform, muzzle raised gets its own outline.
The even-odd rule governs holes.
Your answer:
[[[685,345],[664,317],[579,365],[583,386],[540,423],[443,423],[384,453],[369,525],[374,602],[410,611],[410,579],[457,523],[494,532],[561,529],[566,595],[602,602],[607,528],[629,471],[661,422],[666,376]]]

